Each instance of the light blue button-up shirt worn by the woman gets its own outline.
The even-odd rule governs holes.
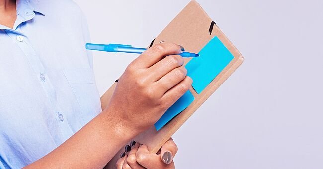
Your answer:
[[[40,159],[101,112],[88,39],[72,0],[17,0],[14,28],[0,25],[1,169]]]

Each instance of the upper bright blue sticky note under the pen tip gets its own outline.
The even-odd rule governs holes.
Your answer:
[[[230,63],[234,56],[218,37],[214,37],[185,66],[187,76],[193,79],[193,88],[200,94],[206,86]]]

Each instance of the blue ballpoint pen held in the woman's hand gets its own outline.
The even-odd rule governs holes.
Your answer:
[[[121,44],[94,44],[94,43],[87,43],[86,49],[89,50],[97,50],[97,51],[105,51],[105,52],[125,52],[125,53],[143,53],[146,48],[134,48],[131,45],[121,45]],[[188,57],[197,57],[200,56],[199,54],[190,53],[190,52],[183,52],[180,54],[182,57],[188,58]]]

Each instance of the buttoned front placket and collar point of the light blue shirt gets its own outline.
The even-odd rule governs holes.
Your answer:
[[[28,8],[22,10],[23,11],[19,11],[19,15],[17,15],[14,29],[8,28],[5,29],[4,32],[6,32],[14,43],[19,46],[28,59],[30,66],[34,70],[36,78],[39,80],[39,83],[49,99],[50,105],[52,105],[53,115],[61,127],[62,136],[64,140],[67,140],[71,135],[73,135],[73,131],[71,130],[67,120],[64,119],[64,112],[61,111],[57,104],[55,89],[50,81],[50,78],[46,74],[46,70],[40,60],[39,55],[32,47],[28,37],[19,31],[19,25],[27,20],[32,19],[35,16],[35,13]]]

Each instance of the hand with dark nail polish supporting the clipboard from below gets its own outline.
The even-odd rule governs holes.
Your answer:
[[[132,141],[117,161],[117,169],[175,169],[173,158],[177,145],[169,139],[157,154],[151,154],[146,145]]]

